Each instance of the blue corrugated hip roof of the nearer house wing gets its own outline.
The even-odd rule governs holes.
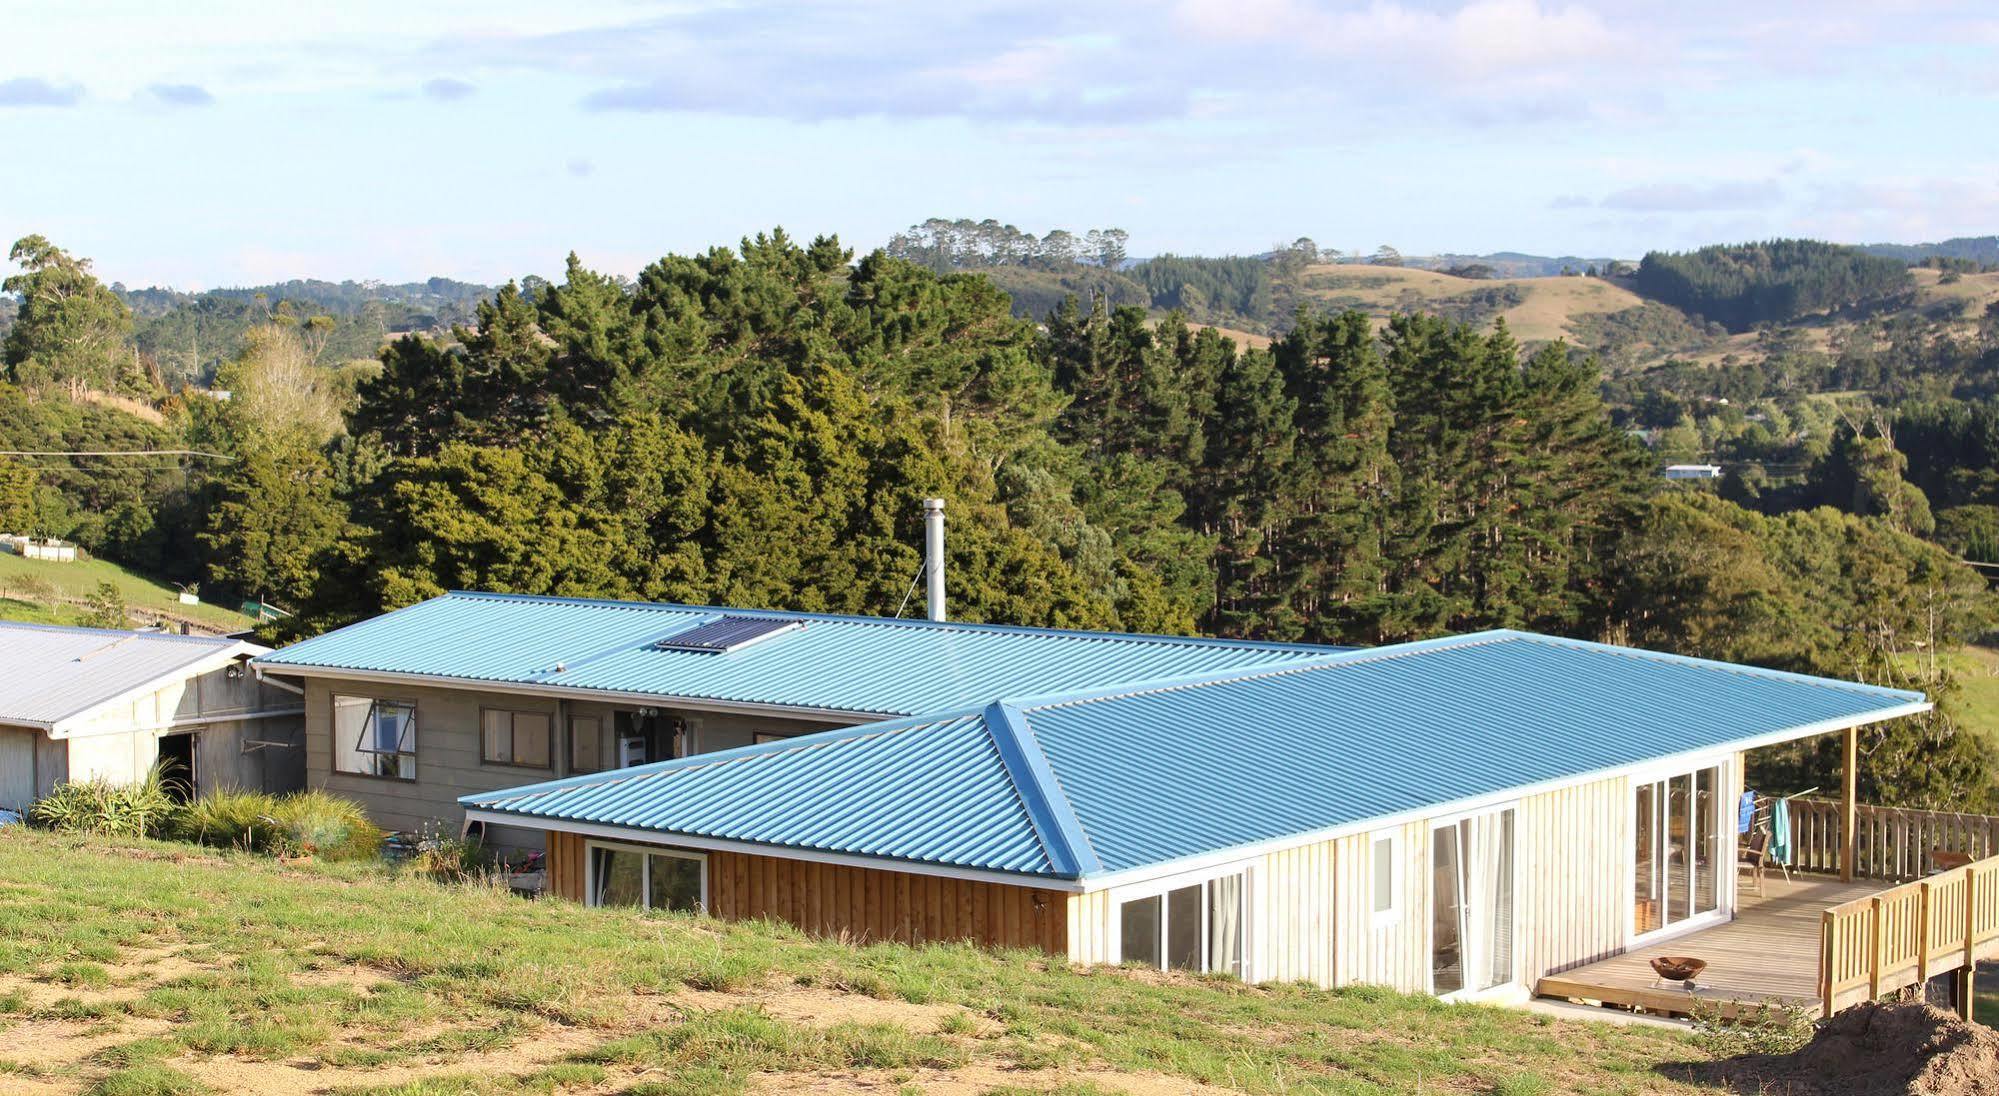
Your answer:
[[[1919,692],[1481,632],[844,728],[460,802],[1089,878],[1921,702]]]

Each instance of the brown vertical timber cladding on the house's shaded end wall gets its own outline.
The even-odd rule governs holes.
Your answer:
[[[548,834],[548,890],[584,898],[588,842]],[[926,944],[962,940],[990,948],[1067,954],[1065,900],[1055,890],[850,868],[746,852],[708,854],[708,912],[724,920],[772,918],[818,936]]]

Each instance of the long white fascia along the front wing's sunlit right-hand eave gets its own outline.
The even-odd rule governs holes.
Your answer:
[[[1177,860],[1161,860],[1157,864],[1141,864],[1137,868],[1125,868],[1125,870],[1107,872],[1107,874],[1101,874],[1101,876],[1087,876],[1085,874],[1081,878],[1081,882],[1083,882],[1085,890],[1109,890],[1113,886],[1125,886],[1125,884],[1133,884],[1133,882],[1147,882],[1147,880],[1153,880],[1153,878],[1159,878],[1159,876],[1173,876],[1173,874],[1179,874],[1179,872],[1193,872],[1193,870],[1201,870],[1201,868],[1215,866],[1215,864],[1231,864],[1235,860],[1253,858],[1253,856],[1265,856],[1265,854],[1271,854],[1271,852],[1289,852],[1293,848],[1303,848],[1303,846],[1319,844],[1319,842],[1333,840],[1333,838],[1345,838],[1345,836],[1353,836],[1353,834],[1367,834],[1367,832],[1373,832],[1373,830],[1385,830],[1385,828],[1401,826],[1401,824],[1407,824],[1407,822],[1421,822],[1425,818],[1437,818],[1437,816],[1443,816],[1443,814],[1477,812],[1481,808],[1489,808],[1489,806],[1497,806],[1497,804],[1505,804],[1505,802],[1513,802],[1513,800],[1523,800],[1523,798],[1529,798],[1529,796],[1539,796],[1539,794],[1555,792],[1555,790],[1561,790],[1561,788],[1573,788],[1577,784],[1595,784],[1599,780],[1615,780],[1619,776],[1633,776],[1633,774],[1639,774],[1639,772],[1647,772],[1647,770],[1655,770],[1655,768],[1669,768],[1669,766],[1675,766],[1675,764],[1687,764],[1691,768],[1691,766],[1695,766],[1695,762],[1711,762],[1711,760],[1717,760],[1717,758],[1727,758],[1729,754],[1739,754],[1743,750],[1759,750],[1763,746],[1779,746],[1783,742],[1797,742],[1799,738],[1813,738],[1813,736],[1819,736],[1819,734],[1831,734],[1835,730],[1847,730],[1847,728],[1855,728],[1855,726],[1867,726],[1867,724],[1877,724],[1877,722],[1887,722],[1887,720],[1899,720],[1899,718],[1907,718],[1907,716],[1919,716],[1919,714],[1923,714],[1923,712],[1927,712],[1931,708],[1935,708],[1935,704],[1929,704],[1929,702],[1905,704],[1901,708],[1885,708],[1885,710],[1879,710],[1879,712],[1865,712],[1865,714],[1859,714],[1859,716],[1847,716],[1847,718],[1837,718],[1837,720],[1823,720],[1823,722],[1803,724],[1803,726],[1795,726],[1795,728],[1787,728],[1787,730],[1773,730],[1769,734],[1757,734],[1757,736],[1751,736],[1751,738],[1737,738],[1737,740],[1731,740],[1731,742],[1719,742],[1715,746],[1701,746],[1699,750],[1681,750],[1677,754],[1661,754],[1657,758],[1645,758],[1645,760],[1637,760],[1637,762],[1631,762],[1631,764],[1621,764],[1621,766],[1611,766],[1611,768],[1599,768],[1599,770],[1581,772],[1581,774],[1575,774],[1575,776],[1561,776],[1561,778],[1555,778],[1555,780],[1539,780],[1539,782],[1533,782],[1533,784],[1519,784],[1519,786],[1513,786],[1513,788],[1499,788],[1495,792],[1485,792],[1485,794],[1479,794],[1479,796],[1465,796],[1465,798],[1459,798],[1459,800],[1439,802],[1439,804],[1431,804],[1431,806],[1419,806],[1419,808],[1411,808],[1411,810],[1399,810],[1399,812],[1393,812],[1393,814],[1379,814],[1379,816],[1373,816],[1373,818],[1357,818],[1353,822],[1341,822],[1339,826],[1325,826],[1325,828],[1319,828],[1319,830],[1305,830],[1305,832],[1289,834],[1289,836],[1281,836],[1281,838],[1269,838],[1269,840],[1261,840],[1261,842],[1239,844],[1239,846],[1231,846],[1231,848],[1219,848],[1219,850],[1213,850],[1213,852],[1199,852],[1195,856],[1181,856]]]

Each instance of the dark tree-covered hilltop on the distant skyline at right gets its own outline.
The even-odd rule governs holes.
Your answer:
[[[1909,284],[1899,260],[1819,240],[1651,252],[1633,282],[1643,296],[1735,332],[1881,300]]]

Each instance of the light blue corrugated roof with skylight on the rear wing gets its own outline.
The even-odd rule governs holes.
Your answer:
[[[656,644],[728,612],[804,624],[714,654]],[[258,662],[914,716],[996,696],[1297,664],[1339,648],[878,616],[446,594]]]

